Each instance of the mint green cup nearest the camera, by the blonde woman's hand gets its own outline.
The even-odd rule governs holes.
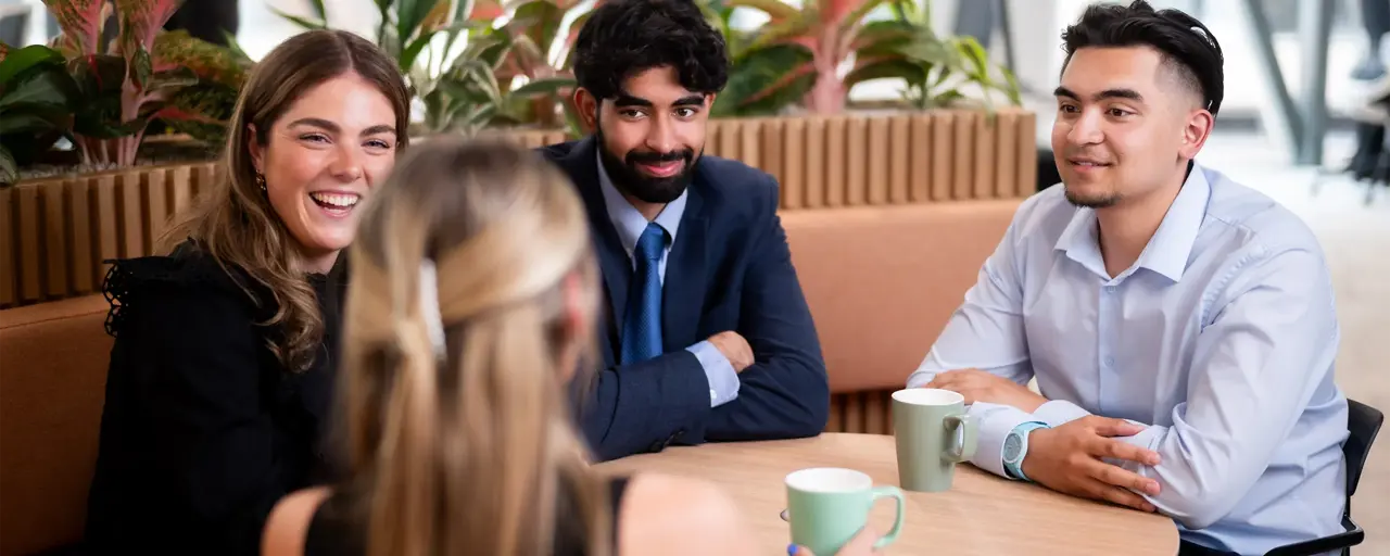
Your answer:
[[[898,502],[892,530],[874,549],[891,545],[902,530],[903,498],[897,486],[874,486],[867,474],[838,468],[813,467],[787,475],[787,517],[791,542],[817,556],[831,556],[869,523],[869,510],[880,498]]]

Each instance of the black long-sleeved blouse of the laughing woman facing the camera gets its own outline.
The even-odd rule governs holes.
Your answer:
[[[310,275],[324,342],[311,368],[286,373],[268,348],[278,328],[261,324],[274,296],[245,272],[192,243],[114,264],[86,552],[256,555],[279,498],[338,478],[325,432],[345,267]]]

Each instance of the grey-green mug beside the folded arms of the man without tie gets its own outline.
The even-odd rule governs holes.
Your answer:
[[[979,423],[966,416],[965,396],[935,388],[892,393],[892,436],[898,485],[913,492],[951,489],[955,466],[974,456]]]

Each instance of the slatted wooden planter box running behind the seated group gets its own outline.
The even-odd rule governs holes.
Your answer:
[[[781,183],[783,210],[1026,197],[1037,118],[1019,110],[714,120],[706,153]],[[527,147],[563,131],[492,131]],[[214,163],[142,167],[0,189],[0,309],[101,289],[106,259],[150,254]]]

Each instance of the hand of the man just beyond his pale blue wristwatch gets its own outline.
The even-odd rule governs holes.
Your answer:
[[[1112,438],[1133,436],[1143,430],[1143,425],[1122,418],[1097,416],[1081,417],[1056,428],[1036,430],[1029,434],[1023,474],[1058,492],[1156,512],[1154,505],[1133,491],[1156,496],[1158,481],[1101,460],[1113,457],[1156,466],[1156,452]]]

